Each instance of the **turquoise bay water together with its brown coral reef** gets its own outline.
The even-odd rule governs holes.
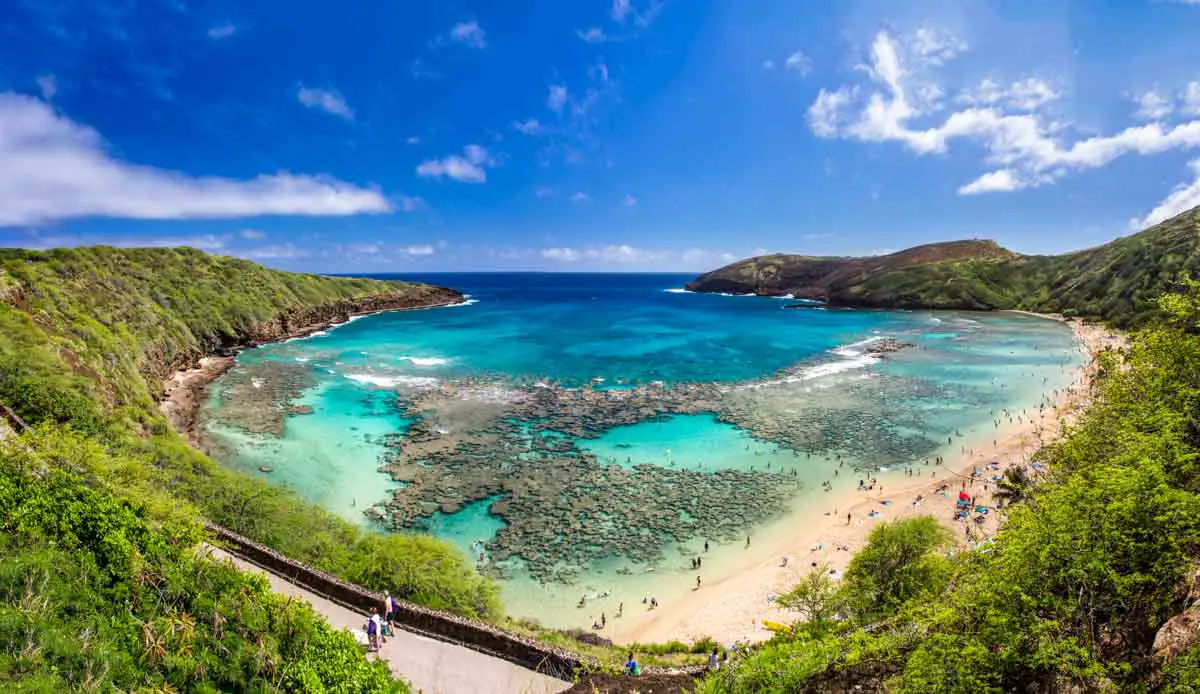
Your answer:
[[[481,566],[503,579],[510,611],[558,626],[593,618],[574,609],[581,594],[662,599],[704,539],[713,540],[714,564],[724,561],[721,552],[739,544],[733,537],[809,513],[839,466],[900,469],[989,439],[1006,409],[1037,407],[1080,361],[1067,328],[1015,315],[785,309],[792,301],[684,293],[677,287],[686,277],[677,275],[406,279],[454,286],[472,301],[371,316],[246,351],[214,385],[205,430],[227,465],[358,522],[383,527],[377,521],[395,509],[364,511],[398,493],[407,498],[404,527],[448,539],[474,560],[482,554]],[[880,337],[912,347],[880,358],[866,351]],[[294,381],[295,395],[259,402],[271,390],[258,388],[262,378]],[[702,384],[697,393],[708,400],[689,408],[656,395],[659,383]],[[589,388],[596,397],[641,397],[631,412],[655,403],[662,411],[613,414],[581,395]],[[522,405],[547,394],[556,400],[542,409]],[[246,431],[245,408],[228,406],[245,397],[254,399],[251,409],[288,413],[281,436]],[[563,433],[572,426],[581,435]],[[476,454],[478,465],[445,472]],[[384,463],[397,465],[402,481],[380,472]],[[742,493],[706,492],[704,480],[734,473],[746,475],[744,493],[786,489],[782,501],[761,516],[744,505],[731,511],[744,527],[690,534],[674,526],[641,533],[617,519],[612,532],[636,536],[636,549],[649,551],[625,556],[619,543],[600,542],[574,564],[544,566],[541,579],[526,570],[546,560],[526,560],[520,543],[548,538],[554,556],[554,542],[576,542],[571,533],[601,522],[598,513],[619,515],[605,495],[629,489],[642,495],[638,503],[656,503],[653,487],[620,485],[698,485],[703,503],[733,503]],[[572,486],[584,478],[601,486]],[[613,484],[617,491],[598,491]],[[550,496],[530,497],[530,489]],[[565,497],[578,501],[536,502]],[[545,517],[530,515],[542,507]],[[647,517],[661,510],[646,508]],[[684,526],[694,521],[678,513]],[[529,524],[562,530],[536,539],[522,534]]]

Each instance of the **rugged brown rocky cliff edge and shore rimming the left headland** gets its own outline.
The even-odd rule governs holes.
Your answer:
[[[190,355],[167,370],[169,376],[164,377],[158,408],[192,447],[208,453],[208,444],[197,429],[200,405],[209,384],[233,367],[239,352],[269,342],[307,337],[359,316],[454,306],[467,300],[455,289],[432,286],[426,289],[416,295],[396,292],[293,309],[254,325],[244,335],[212,337],[206,341],[205,354]]]

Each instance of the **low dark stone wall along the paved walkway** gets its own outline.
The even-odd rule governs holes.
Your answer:
[[[370,615],[371,610],[382,610],[383,608],[384,596],[382,593],[347,584],[326,573],[289,560],[270,548],[263,546],[221,526],[209,525],[208,530],[216,536],[216,539],[230,554],[258,564],[299,586],[304,586],[324,598],[361,611],[364,614],[364,623],[366,623],[366,615]],[[539,644],[533,639],[503,632],[482,622],[475,622],[448,612],[439,612],[403,600],[400,602],[400,618],[397,622],[406,629],[436,638],[440,641],[467,646],[508,660],[509,663],[515,663],[522,668],[528,668],[529,670],[568,682],[571,682],[574,675],[584,666],[580,657],[574,653],[559,651],[546,644]]]

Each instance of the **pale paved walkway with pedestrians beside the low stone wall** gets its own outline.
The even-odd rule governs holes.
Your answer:
[[[367,622],[366,617],[354,610],[311,593],[224,550],[208,550],[210,556],[233,562],[239,569],[265,575],[275,592],[307,600],[334,627],[361,630]],[[396,629],[379,653],[371,657],[388,660],[395,676],[407,680],[424,694],[551,694],[571,687],[568,682],[539,675],[508,660],[403,629]]]

